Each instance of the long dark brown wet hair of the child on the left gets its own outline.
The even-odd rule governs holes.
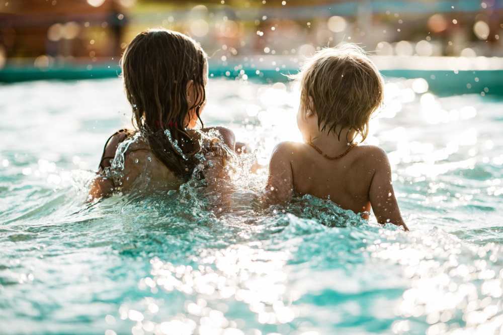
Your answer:
[[[155,157],[183,178],[192,173],[197,163],[194,155],[200,150],[187,126],[194,118],[202,125],[206,59],[203,49],[190,37],[155,29],[138,34],[121,60],[133,125],[144,135]],[[189,102],[187,87],[191,80],[194,101]]]

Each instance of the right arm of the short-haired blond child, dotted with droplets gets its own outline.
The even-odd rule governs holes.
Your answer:
[[[370,184],[369,198],[377,222],[380,224],[391,222],[394,225],[402,226],[404,230],[408,231],[393,191],[391,166],[388,157],[382,149],[377,149],[373,158],[375,172]]]

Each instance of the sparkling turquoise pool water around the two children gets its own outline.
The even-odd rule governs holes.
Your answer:
[[[120,81],[0,86],[0,333],[499,333],[501,100],[424,86],[390,80],[368,139],[389,153],[410,233],[310,197],[260,209],[265,172],[240,167],[230,205],[191,184],[87,205],[130,120]],[[299,139],[295,92],[210,80],[203,120],[265,164]]]

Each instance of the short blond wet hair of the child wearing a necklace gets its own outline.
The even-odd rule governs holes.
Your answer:
[[[384,85],[362,48],[352,43],[323,48],[290,77],[300,80],[301,104],[315,111],[320,131],[340,138],[343,129],[350,129],[362,142],[367,138],[370,118],[383,101]]]

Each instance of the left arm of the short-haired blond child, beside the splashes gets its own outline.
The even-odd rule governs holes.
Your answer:
[[[269,178],[264,194],[264,201],[266,203],[285,203],[292,198],[292,154],[293,148],[289,142],[280,143],[274,148],[269,163]]]

